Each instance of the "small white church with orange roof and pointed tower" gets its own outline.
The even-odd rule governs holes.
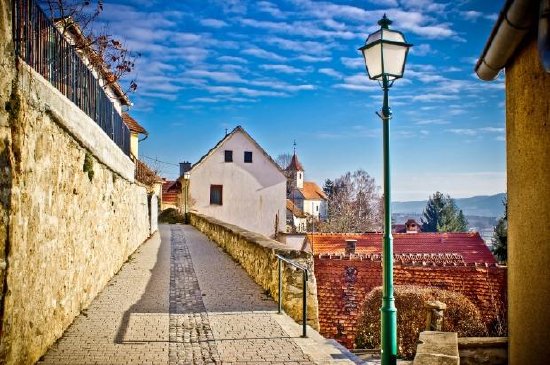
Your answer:
[[[289,177],[288,199],[296,208],[316,220],[327,219],[327,196],[323,189],[312,181],[304,181],[304,168],[294,152],[286,168]]]

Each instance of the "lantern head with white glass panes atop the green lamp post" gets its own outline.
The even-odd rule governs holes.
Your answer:
[[[403,33],[389,29],[391,20],[384,17],[378,22],[380,29],[370,34],[359,50],[363,54],[367,73],[371,80],[393,81],[403,77],[409,48]]]

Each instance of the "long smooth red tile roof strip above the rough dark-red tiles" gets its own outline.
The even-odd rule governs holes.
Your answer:
[[[382,233],[318,233],[307,239],[315,255],[344,254],[346,239],[356,239],[357,254],[380,254]],[[312,243],[313,242],[313,243]],[[496,264],[489,248],[477,232],[466,233],[395,233],[394,254],[458,254],[465,263]]]

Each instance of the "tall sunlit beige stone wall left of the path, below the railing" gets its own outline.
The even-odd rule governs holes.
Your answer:
[[[0,1],[0,363],[33,364],[150,225],[131,161],[38,74],[15,66],[10,21],[11,4]]]

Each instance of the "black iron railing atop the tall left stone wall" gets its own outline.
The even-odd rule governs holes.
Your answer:
[[[16,54],[130,155],[130,130],[99,79],[35,0],[13,0]]]

